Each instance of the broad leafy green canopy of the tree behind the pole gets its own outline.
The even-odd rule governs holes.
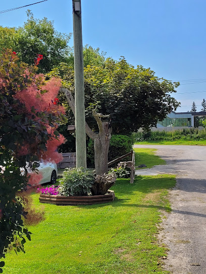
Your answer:
[[[61,76],[64,87],[74,92],[71,65],[61,63],[48,76]],[[178,83],[156,77],[150,68],[141,65],[134,68],[124,57],[119,61],[107,58],[100,65],[90,60],[84,68],[84,81],[86,121],[94,130],[96,123],[91,113],[95,106],[99,112],[110,114],[113,132],[119,134],[155,126],[179,106],[171,96]],[[64,95],[60,97],[67,104]]]

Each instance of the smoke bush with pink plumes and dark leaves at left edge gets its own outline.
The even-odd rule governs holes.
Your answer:
[[[31,233],[23,224],[27,213],[21,192],[34,181],[35,173],[28,176],[26,162],[40,158],[57,162],[57,146],[64,142],[57,131],[59,122],[65,120],[56,98],[60,80],[45,82],[43,75],[37,75],[41,59],[39,54],[29,66],[19,63],[11,49],[0,56],[0,259],[11,245],[24,252],[25,238],[30,240]],[[23,175],[20,167],[25,170]],[[3,265],[0,262],[0,272]]]

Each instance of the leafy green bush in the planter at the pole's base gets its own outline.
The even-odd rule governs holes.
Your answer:
[[[66,168],[60,180],[58,192],[64,196],[87,196],[94,183],[94,173],[90,169]]]

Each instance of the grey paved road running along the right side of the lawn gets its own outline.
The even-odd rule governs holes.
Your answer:
[[[177,174],[170,191],[172,213],[163,221],[160,240],[168,247],[165,269],[174,274],[206,273],[206,147],[135,145],[156,148],[167,165],[136,174]],[[141,163],[143,164],[143,163]]]

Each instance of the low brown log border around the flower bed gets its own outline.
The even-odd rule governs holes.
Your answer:
[[[94,196],[58,196],[40,194],[39,202],[42,203],[54,203],[57,205],[81,205],[81,204],[95,204],[111,202],[115,199],[115,192],[108,190],[109,194],[94,195]]]

